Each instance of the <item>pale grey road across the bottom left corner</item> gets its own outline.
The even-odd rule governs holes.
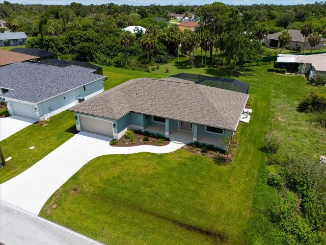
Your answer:
[[[99,245],[95,240],[0,201],[0,244]]]

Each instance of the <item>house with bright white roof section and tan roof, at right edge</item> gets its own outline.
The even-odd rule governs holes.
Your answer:
[[[309,78],[316,74],[326,76],[326,54],[279,55],[275,66],[288,72],[309,75]]]

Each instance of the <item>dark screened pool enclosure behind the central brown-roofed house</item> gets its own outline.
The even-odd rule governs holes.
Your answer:
[[[215,88],[236,91],[240,93],[248,93],[249,84],[232,78],[216,78],[199,74],[180,73],[172,75],[170,78],[179,78],[183,80],[193,81],[197,84],[202,84]]]

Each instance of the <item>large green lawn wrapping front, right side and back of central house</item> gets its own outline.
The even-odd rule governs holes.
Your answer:
[[[166,66],[168,73],[164,72]],[[186,58],[151,72],[104,67],[109,78],[106,89],[131,78],[163,78],[180,72],[234,77],[250,83],[254,113],[249,124],[240,124],[237,129],[239,148],[229,165],[218,166],[211,159],[183,150],[159,156],[102,156],[53,194],[47,204],[60,196],[55,201],[58,207],[50,208],[49,215],[43,208],[41,216],[110,244],[282,244],[279,231],[267,216],[271,201],[279,197],[265,184],[268,171],[260,149],[273,125],[278,125],[277,132],[289,130],[275,122],[278,102],[288,97],[287,110],[278,112],[283,116],[292,113],[297,122],[301,116],[295,106],[300,97],[326,89],[306,84],[301,76],[266,72],[270,66],[247,67],[240,76],[198,65],[190,69]],[[307,127],[305,133],[318,137],[306,146],[307,151],[319,154],[325,146],[316,151],[314,143],[325,131]],[[295,140],[302,140],[302,135]],[[290,138],[282,138],[285,149],[292,147],[288,141]],[[298,149],[304,144],[302,141]],[[72,191],[74,188],[78,191]]]

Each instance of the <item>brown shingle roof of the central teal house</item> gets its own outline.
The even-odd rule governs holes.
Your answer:
[[[130,111],[235,130],[248,94],[181,79],[141,78],[101,93],[70,111],[119,119]]]

